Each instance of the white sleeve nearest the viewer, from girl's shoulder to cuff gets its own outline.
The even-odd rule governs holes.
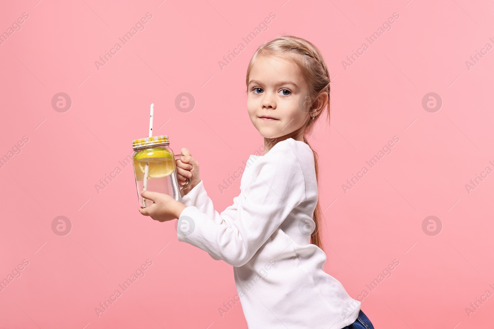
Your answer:
[[[273,148],[251,170],[249,186],[221,215],[212,208],[212,202],[205,212],[197,206],[185,208],[178,219],[178,241],[233,266],[246,264],[306,198],[303,169],[292,150]],[[204,203],[204,195],[202,199]]]

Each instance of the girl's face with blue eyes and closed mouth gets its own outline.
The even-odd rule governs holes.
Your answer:
[[[268,139],[303,134],[309,113],[300,100],[308,91],[297,65],[279,57],[259,57],[247,85],[250,121]]]

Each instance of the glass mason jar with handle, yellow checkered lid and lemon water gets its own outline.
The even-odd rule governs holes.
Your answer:
[[[135,185],[139,204],[143,208],[153,204],[153,201],[141,197],[143,190],[168,194],[180,201],[180,190],[189,187],[191,183],[190,178],[187,178],[184,185],[178,184],[175,156],[182,154],[174,155],[169,145],[168,135],[132,141]]]

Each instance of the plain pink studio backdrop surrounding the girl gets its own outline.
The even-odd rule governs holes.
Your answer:
[[[29,138],[0,168],[0,279],[29,261],[0,292],[0,328],[247,328],[240,304],[218,311],[237,294],[232,266],[179,243],[176,220],[141,216],[132,167],[119,160],[147,136],[155,103],[155,135],[169,135],[176,153],[188,147],[215,208],[230,205],[240,181],[223,194],[218,184],[262,145],[247,116],[247,63],[280,34],[316,44],[334,79],[331,124],[321,121],[310,139],[320,154],[326,272],[356,298],[400,261],[362,302],[375,328],[492,323],[494,297],[470,317],[465,310],[494,293],[494,174],[465,188],[494,169],[494,50],[465,64],[494,46],[492,1],[38,1],[0,10],[0,32],[29,14],[0,45],[0,156]],[[147,12],[144,31],[98,71],[94,61]],[[271,12],[268,30],[221,70],[218,61]],[[346,56],[394,12],[392,29],[345,70]],[[51,106],[59,92],[72,99],[63,113]],[[175,108],[182,92],[196,100],[189,112]],[[430,92],[443,101],[433,113],[421,105]],[[392,153],[345,193],[341,185],[393,136]],[[117,166],[98,194],[95,184]],[[52,231],[57,216],[70,219],[68,235]],[[440,234],[424,233],[428,216],[441,220]],[[146,259],[145,276],[98,317],[94,308]]]

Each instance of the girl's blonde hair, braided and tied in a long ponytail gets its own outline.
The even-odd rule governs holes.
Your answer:
[[[246,85],[248,89],[248,79],[250,70],[252,69],[253,64],[257,61],[259,57],[270,57],[270,56],[278,56],[282,58],[286,58],[294,62],[300,70],[302,71],[305,81],[309,86],[309,100],[318,100],[318,96],[321,96],[322,93],[328,94],[328,104],[327,107],[327,121],[329,122],[329,72],[328,66],[324,60],[323,55],[317,49],[317,47],[306,39],[300,37],[293,36],[282,36],[277,37],[271,41],[265,42],[261,44],[254,55],[250,59],[250,62],[247,67],[247,78]],[[248,90],[247,90],[248,91]],[[304,103],[305,104],[305,103]],[[311,102],[310,104],[314,104]],[[319,107],[319,101],[316,106],[311,106],[311,111],[316,110]],[[321,112],[314,118],[309,119],[307,125],[305,127],[304,132],[304,142],[309,145],[307,141],[306,135],[310,135],[312,129],[316,121],[322,116],[325,108],[321,109]],[[309,113],[311,113],[309,111]],[[312,149],[312,147],[311,147]],[[314,163],[316,167],[316,180],[319,182],[319,166],[318,166],[318,154],[316,151],[312,150],[314,153]],[[319,204],[319,200],[316,204],[316,209],[314,210],[313,220],[316,224],[314,232],[311,234],[311,244],[314,244],[324,250],[323,241],[321,238],[321,233],[319,228],[322,224],[322,210],[321,205]]]

